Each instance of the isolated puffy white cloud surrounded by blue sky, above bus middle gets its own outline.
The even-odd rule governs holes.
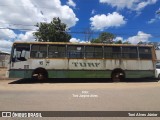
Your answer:
[[[126,23],[124,16],[117,12],[113,12],[112,14],[108,13],[108,15],[95,15],[90,18],[90,21],[91,27],[94,30],[104,30],[109,27],[120,27]]]

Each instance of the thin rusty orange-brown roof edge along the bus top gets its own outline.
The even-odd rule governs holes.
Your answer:
[[[56,44],[56,45],[98,45],[98,46],[147,46],[153,47],[153,45],[134,45],[134,44],[106,44],[106,43],[71,43],[71,42],[14,42],[14,44]]]

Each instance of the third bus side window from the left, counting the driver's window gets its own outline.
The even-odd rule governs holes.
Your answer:
[[[49,45],[48,57],[49,58],[65,58],[65,45]]]

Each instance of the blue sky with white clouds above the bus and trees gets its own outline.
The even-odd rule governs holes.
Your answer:
[[[35,41],[36,23],[59,17],[71,42],[89,42],[101,32],[114,41],[160,42],[160,0],[0,0],[0,51],[15,41]]]

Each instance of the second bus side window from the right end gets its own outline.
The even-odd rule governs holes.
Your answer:
[[[137,47],[122,47],[122,58],[126,59],[137,59],[138,58],[138,52]]]

